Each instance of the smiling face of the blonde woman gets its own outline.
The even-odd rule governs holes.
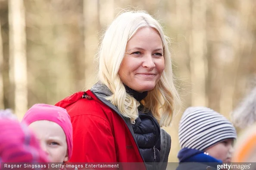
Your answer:
[[[119,69],[122,82],[140,93],[152,90],[165,69],[162,39],[154,28],[137,30],[127,42]]]

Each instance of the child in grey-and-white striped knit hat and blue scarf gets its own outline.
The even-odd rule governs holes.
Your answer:
[[[223,115],[207,107],[187,108],[179,123],[178,170],[186,169],[186,162],[202,163],[196,166],[205,169],[231,162],[236,138],[234,126]]]

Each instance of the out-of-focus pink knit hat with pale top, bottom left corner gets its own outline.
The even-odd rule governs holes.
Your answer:
[[[40,148],[35,135],[25,124],[19,123],[9,110],[0,110],[0,162],[12,162],[13,165],[17,165],[18,162],[48,162],[47,155]]]

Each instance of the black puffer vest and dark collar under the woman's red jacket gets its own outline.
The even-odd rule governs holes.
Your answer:
[[[127,86],[125,88],[139,102],[147,97],[147,91],[139,93]],[[139,106],[138,112],[139,117],[132,124],[133,131],[140,153],[147,164],[147,169],[154,170],[156,169],[156,163],[160,162],[160,126],[150,111],[143,112],[142,105]]]

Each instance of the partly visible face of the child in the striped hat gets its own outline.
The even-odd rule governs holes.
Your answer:
[[[208,152],[210,156],[216,159],[222,160],[223,163],[230,163],[233,153],[233,144],[233,139],[223,140],[222,142],[207,148],[205,152]]]

